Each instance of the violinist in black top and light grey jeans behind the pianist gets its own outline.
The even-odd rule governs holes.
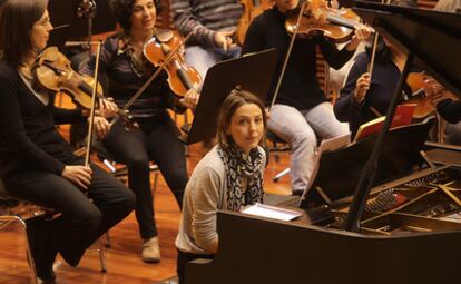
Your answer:
[[[291,41],[285,21],[298,4],[298,0],[275,0],[274,8],[257,17],[246,33],[243,53],[267,48],[278,50],[268,102],[274,96]],[[369,28],[357,27],[352,40],[342,50],[320,35],[301,36],[294,41],[267,126],[269,131],[292,146],[292,190],[295,195],[302,194],[311,177],[316,137],[331,138],[349,133],[347,125],[339,123],[334,117],[333,107],[320,87],[315,48],[320,47],[330,66],[337,69],[352,57],[359,42],[369,35]]]

